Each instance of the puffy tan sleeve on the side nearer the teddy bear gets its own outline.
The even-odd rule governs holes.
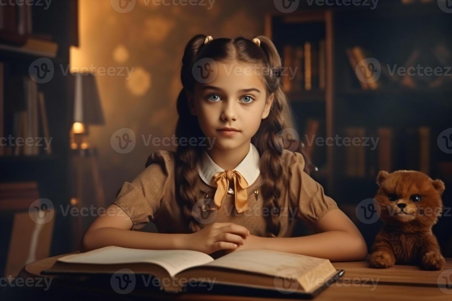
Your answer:
[[[336,202],[326,196],[322,185],[303,171],[305,160],[301,153],[290,153],[289,202],[297,210],[296,218],[308,222],[314,229],[318,220],[334,208]]]

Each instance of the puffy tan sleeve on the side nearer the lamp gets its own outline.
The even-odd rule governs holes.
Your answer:
[[[168,151],[151,153],[146,168],[132,183],[124,182],[112,204],[121,208],[132,220],[132,230],[139,230],[154,219],[169,185],[172,166]]]

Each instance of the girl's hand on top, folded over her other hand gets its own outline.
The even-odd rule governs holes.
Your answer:
[[[235,250],[243,245],[250,231],[232,222],[215,222],[195,233],[188,234],[189,250],[212,254],[219,250]]]

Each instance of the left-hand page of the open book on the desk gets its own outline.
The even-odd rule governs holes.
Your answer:
[[[209,255],[193,250],[143,250],[110,245],[85,253],[63,256],[58,261],[71,264],[158,264],[173,277],[184,269],[213,261]]]

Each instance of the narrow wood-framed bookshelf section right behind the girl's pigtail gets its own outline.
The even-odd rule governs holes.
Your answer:
[[[321,71],[317,74],[306,74],[305,70],[297,69],[294,79],[284,81],[285,90],[291,101],[292,112],[297,120],[299,133],[305,133],[309,127],[310,120],[320,121],[319,133],[322,136],[332,136],[334,133],[334,56],[333,56],[333,14],[330,10],[310,10],[306,12],[296,12],[292,14],[270,14],[265,19],[265,35],[271,37],[273,43],[282,54],[283,66],[292,68],[299,67],[292,56],[290,48],[301,52],[299,59],[302,64],[306,61],[315,62],[312,65],[321,66]],[[322,41],[322,42],[320,42]],[[320,43],[323,46],[320,46]],[[309,45],[309,48],[306,46]],[[287,46],[290,48],[288,49]],[[322,51],[320,51],[320,48]],[[307,59],[307,53],[311,60]],[[318,58],[318,59],[314,59]],[[323,60],[323,64],[320,62]],[[320,69],[320,68],[318,68]],[[321,72],[321,74],[319,73]],[[300,78],[297,76],[300,74]],[[306,86],[307,77],[311,77],[309,87]],[[290,87],[290,88],[289,88]],[[301,138],[306,145],[306,138]],[[333,189],[334,182],[334,153],[332,148],[323,149],[317,152],[313,148],[315,155],[312,157],[319,171],[313,175],[328,190]],[[312,154],[308,154],[312,156]]]

